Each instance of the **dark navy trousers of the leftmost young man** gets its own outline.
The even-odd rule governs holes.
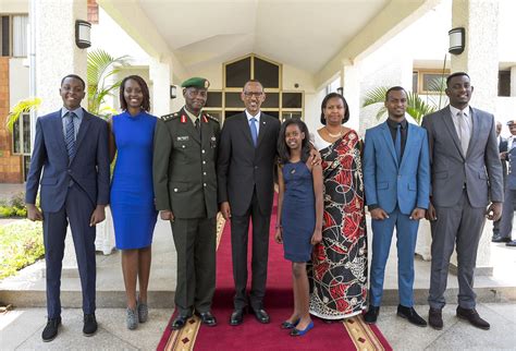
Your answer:
[[[44,213],[45,261],[47,264],[47,313],[49,318],[61,315],[61,269],[64,255],[64,239],[70,222],[81,287],[83,289],[83,312],[95,313],[95,283],[97,266],[95,261],[95,227],[89,227],[94,205],[79,186],[67,189],[63,207],[57,213]]]

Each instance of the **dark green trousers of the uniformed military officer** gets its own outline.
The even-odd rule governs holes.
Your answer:
[[[177,252],[175,306],[183,315],[208,312],[216,288],[216,218],[176,218],[172,235]]]

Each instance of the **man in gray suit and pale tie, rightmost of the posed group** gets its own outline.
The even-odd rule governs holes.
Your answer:
[[[427,211],[432,230],[429,325],[442,329],[450,257],[457,250],[457,317],[489,329],[475,310],[472,290],[477,249],[486,217],[502,213],[503,179],[496,145],[494,117],[469,107],[474,92],[467,73],[446,78],[450,105],[426,116],[432,184]],[[488,210],[486,208],[491,201]]]

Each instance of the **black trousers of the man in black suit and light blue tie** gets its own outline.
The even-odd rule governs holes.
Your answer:
[[[231,217],[231,249],[233,258],[233,279],[235,281],[235,308],[247,305],[247,243],[249,219],[253,221],[253,258],[249,302],[253,308],[262,307],[266,295],[267,263],[269,257],[270,215],[260,211],[256,189],[249,208],[244,216]]]

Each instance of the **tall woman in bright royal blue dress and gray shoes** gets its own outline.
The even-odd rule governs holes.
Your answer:
[[[116,249],[122,251],[126,325],[128,329],[135,329],[138,322],[148,318],[150,245],[157,219],[152,190],[152,142],[157,118],[148,113],[149,89],[138,75],[122,81],[120,106],[124,112],[109,122],[111,161],[116,154],[110,206]],[[139,298],[136,298],[136,281]]]

